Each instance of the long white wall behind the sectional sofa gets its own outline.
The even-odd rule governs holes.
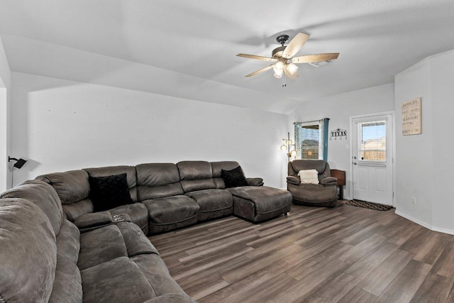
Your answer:
[[[18,72],[11,83],[11,153],[29,159],[15,184],[83,167],[237,160],[246,177],[282,187],[287,115]]]

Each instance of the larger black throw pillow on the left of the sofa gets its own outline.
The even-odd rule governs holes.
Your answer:
[[[126,173],[106,177],[89,176],[90,198],[94,211],[106,211],[114,207],[132,204]]]

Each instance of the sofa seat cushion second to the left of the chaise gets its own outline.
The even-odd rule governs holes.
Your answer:
[[[191,197],[166,197],[146,200],[143,204],[148,208],[150,233],[170,231],[197,221],[199,204]]]

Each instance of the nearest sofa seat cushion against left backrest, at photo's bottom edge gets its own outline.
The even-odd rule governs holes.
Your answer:
[[[156,297],[142,270],[126,257],[81,271],[84,303],[145,302]]]

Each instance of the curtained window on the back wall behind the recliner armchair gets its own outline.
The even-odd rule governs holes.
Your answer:
[[[294,123],[297,159],[327,160],[328,120]]]

